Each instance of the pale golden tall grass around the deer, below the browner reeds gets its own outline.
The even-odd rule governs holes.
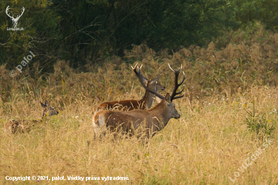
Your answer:
[[[29,82],[23,84],[27,86],[27,83]],[[57,88],[64,91],[58,94]],[[267,114],[269,124],[273,123],[276,126],[278,118],[273,111],[277,108],[277,88],[261,86],[234,96],[220,94],[204,97],[200,101],[191,101],[185,97],[176,101],[181,118],[170,120],[168,125],[150,140],[148,147],[137,141],[136,137],[116,141],[108,137],[100,142],[93,140],[90,112],[99,100],[91,95],[92,91],[84,90],[82,83],[79,84],[79,89],[69,88],[65,84],[57,88],[55,85],[48,86],[44,88],[44,92],[41,89],[41,94],[37,93],[34,96],[33,91],[23,95],[12,91],[12,96],[15,97],[13,101],[2,102],[2,109],[12,110],[2,113],[2,128],[4,122],[10,118],[39,118],[42,112],[38,99],[43,97],[48,97],[58,110],[62,110],[62,107],[65,110],[51,118],[47,124],[39,125],[29,133],[5,135],[2,129],[1,184],[8,183],[5,180],[6,175],[128,175],[129,181],[116,182],[232,184],[228,176],[234,179],[234,172],[245,162],[248,153],[254,153],[257,148],[262,147],[262,141],[258,140],[257,135],[248,131],[244,122],[247,114],[242,106],[247,104],[246,108],[251,110],[250,102],[254,97],[258,112]],[[133,88],[127,88],[126,91],[128,94],[117,96],[116,99],[138,99],[144,92],[136,81]],[[70,93],[71,96],[68,96]],[[110,94],[108,90],[106,96],[112,97],[114,93],[116,92]],[[61,102],[64,106],[61,106]],[[273,141],[272,146],[256,159],[256,163],[244,169],[244,173],[240,172],[237,183],[278,183],[277,130],[270,135],[270,140]],[[91,146],[87,146],[87,141],[91,142]],[[67,183],[103,184],[104,181]]]

